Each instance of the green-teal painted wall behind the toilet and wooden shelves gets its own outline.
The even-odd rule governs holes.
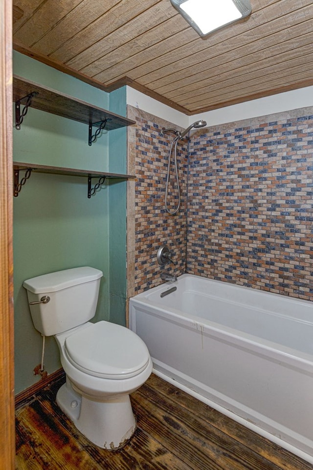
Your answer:
[[[14,54],[14,73],[106,109],[126,107],[119,103],[125,98],[123,90],[111,99],[109,94],[19,53]],[[126,165],[126,130],[113,132],[118,143],[112,144],[104,131],[89,147],[87,125],[30,108],[21,130],[13,131],[14,160],[94,171],[113,171],[112,166],[122,173]],[[118,155],[113,158],[111,147],[117,150],[116,145]],[[124,187],[124,182],[106,182],[88,199],[86,178],[33,173],[14,198],[16,393],[39,379],[33,376],[33,369],[41,361],[42,337],[32,325],[22,287],[25,279],[75,266],[101,269],[104,277],[94,321],[110,319],[124,324],[123,302],[118,302],[118,309],[110,308],[116,292],[118,299],[126,295],[125,220],[116,222],[117,218],[126,218]],[[111,224],[115,207],[118,217]],[[47,338],[45,370],[50,374],[60,366],[55,340]]]

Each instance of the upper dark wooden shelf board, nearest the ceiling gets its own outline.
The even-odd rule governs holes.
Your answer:
[[[135,123],[131,119],[93,106],[78,98],[13,75],[13,100],[15,102],[20,101],[22,104],[25,104],[27,96],[32,93],[35,93],[31,101],[32,108],[62,116],[63,118],[73,119],[95,127],[100,127],[101,122],[107,119],[105,129],[109,131]]]

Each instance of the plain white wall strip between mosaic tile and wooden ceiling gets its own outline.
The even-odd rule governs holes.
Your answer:
[[[127,104],[147,111],[159,118],[166,119],[181,127],[187,127],[199,119],[204,119],[207,121],[208,126],[213,126],[313,106],[313,86],[246,101],[245,103],[239,103],[206,113],[195,114],[193,116],[186,116],[129,86],[127,87]]]

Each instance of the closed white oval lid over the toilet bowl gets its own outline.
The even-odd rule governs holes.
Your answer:
[[[145,343],[133,331],[114,323],[90,323],[65,340],[68,360],[91,376],[122,379],[136,376],[149,362]]]

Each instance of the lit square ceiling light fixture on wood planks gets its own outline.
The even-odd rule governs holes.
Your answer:
[[[171,3],[200,36],[251,13],[249,0],[171,0]]]

